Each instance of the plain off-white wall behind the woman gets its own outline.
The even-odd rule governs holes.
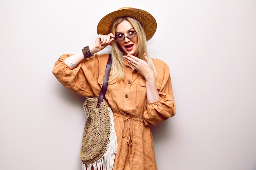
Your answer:
[[[1,0],[0,170],[80,170],[84,98],[52,68],[127,6],[155,16],[148,49],[172,76],[177,114],[152,128],[158,169],[256,170],[256,0]]]

